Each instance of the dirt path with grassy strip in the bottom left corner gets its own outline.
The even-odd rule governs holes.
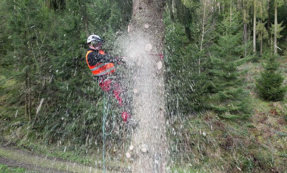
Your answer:
[[[31,172],[45,172],[45,173],[97,173],[102,172],[100,168],[80,165],[77,163],[51,159],[43,155],[22,151],[10,147],[0,146],[0,163],[12,167],[26,168]],[[116,171],[106,171],[116,172]]]

